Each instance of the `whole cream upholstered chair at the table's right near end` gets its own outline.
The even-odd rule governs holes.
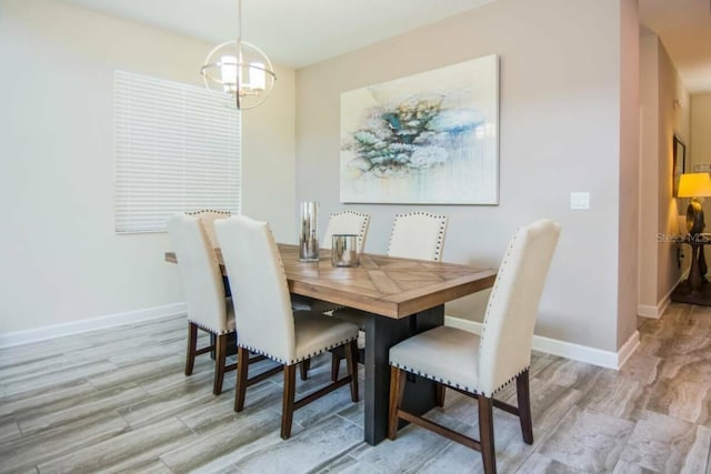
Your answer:
[[[495,473],[492,407],[497,406],[518,415],[523,441],[533,443],[529,392],[531,344],[559,234],[560,225],[549,220],[535,221],[517,231],[491,290],[481,336],[439,326],[390,349],[390,440],[397,436],[398,420],[407,420],[481,452],[484,472]],[[408,372],[477,399],[479,440],[403,410]],[[497,391],[512,381],[517,384],[518,406],[493,399]],[[440,395],[443,394],[441,387]],[[442,404],[443,396],[439,401]]]

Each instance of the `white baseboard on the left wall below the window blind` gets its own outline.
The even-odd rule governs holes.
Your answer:
[[[187,313],[188,305],[186,303],[173,303],[166,304],[163,306],[147,307],[143,310],[91,317],[88,320],[71,321],[63,324],[53,324],[32,330],[14,331],[0,334],[0,349],[12,347],[14,345],[28,344],[31,342],[47,341],[49,339],[66,335],[81,334],[89,331],[116,327],[124,324],[182,316]]]

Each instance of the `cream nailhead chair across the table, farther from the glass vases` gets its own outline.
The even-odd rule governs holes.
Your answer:
[[[395,214],[390,232],[388,256],[439,262],[442,260],[444,250],[445,231],[447,215],[435,215],[424,211]],[[343,307],[337,310],[333,315],[358,324],[361,331],[365,327],[365,316],[358,310]],[[332,380],[338,379],[341,359],[336,353],[331,359]]]

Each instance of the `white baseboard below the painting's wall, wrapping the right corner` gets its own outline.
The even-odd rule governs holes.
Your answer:
[[[464,331],[481,334],[482,323],[475,321],[463,320],[455,316],[444,316],[444,324],[458,327]],[[541,335],[533,336],[533,349],[535,351],[545,352],[548,354],[559,355],[574,361],[585,362],[588,364],[598,365],[607,369],[619,370],[627,359],[634,352],[640,342],[639,332],[634,331],[632,336],[625,342],[618,352],[602,351],[600,349],[589,347],[587,345],[573,344],[565,341],[544,337]]]

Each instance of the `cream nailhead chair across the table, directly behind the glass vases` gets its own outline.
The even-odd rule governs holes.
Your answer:
[[[350,209],[341,212],[334,212],[329,218],[329,224],[326,228],[323,240],[320,242],[319,246],[321,249],[330,249],[333,234],[354,234],[358,235],[358,252],[361,253],[365,245],[369,223],[370,214],[365,214],[363,212],[357,212]],[[300,294],[292,294],[291,307],[294,310],[318,311],[323,313],[326,311],[333,311],[339,306],[337,304],[329,303],[328,301],[302,296]],[[302,375],[306,376],[306,374]]]

